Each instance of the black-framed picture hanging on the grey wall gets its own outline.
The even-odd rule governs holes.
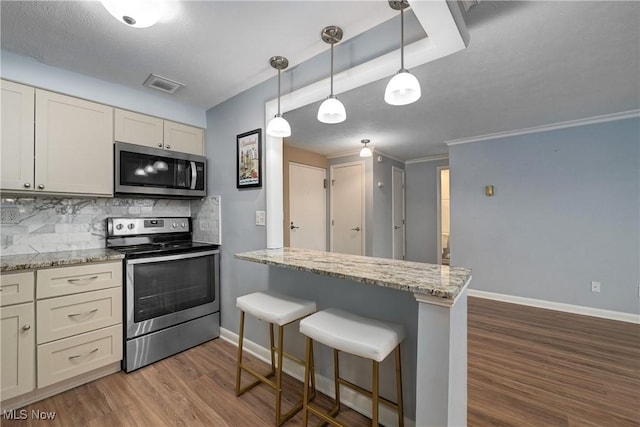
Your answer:
[[[236,137],[236,187],[262,187],[262,129]]]

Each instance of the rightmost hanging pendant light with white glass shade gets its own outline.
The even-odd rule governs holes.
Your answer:
[[[416,76],[404,68],[404,10],[409,7],[407,0],[389,1],[391,9],[400,11],[400,70],[384,91],[384,100],[391,105],[407,105],[420,99],[420,82]]]

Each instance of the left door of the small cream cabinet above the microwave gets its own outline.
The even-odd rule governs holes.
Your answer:
[[[164,146],[163,120],[133,111],[114,110],[114,138],[130,144],[162,148]]]

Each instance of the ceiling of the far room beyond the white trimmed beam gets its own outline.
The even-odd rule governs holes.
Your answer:
[[[285,142],[325,155],[361,139],[400,160],[447,153],[445,141],[640,108],[640,3],[482,1],[465,16],[467,49],[410,71],[416,103],[384,103],[388,78],[338,95],[347,120],[287,112]]]

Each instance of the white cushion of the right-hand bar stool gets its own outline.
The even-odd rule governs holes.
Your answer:
[[[304,318],[300,332],[314,341],[382,362],[404,340],[402,325],[328,308]]]

